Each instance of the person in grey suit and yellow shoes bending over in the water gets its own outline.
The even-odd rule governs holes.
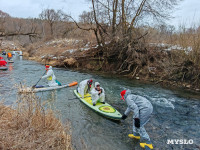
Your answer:
[[[124,112],[122,119],[126,119],[132,111],[133,115],[133,134],[129,134],[130,138],[140,139],[140,146],[146,149],[153,149],[144,125],[149,121],[153,112],[152,104],[144,97],[131,94],[130,90],[123,90],[121,92],[121,99],[123,99],[128,108]]]

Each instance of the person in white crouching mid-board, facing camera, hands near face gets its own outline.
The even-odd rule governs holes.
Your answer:
[[[102,87],[100,87],[99,82],[95,82],[94,85],[95,85],[95,88],[93,88],[91,90],[93,106],[96,105],[98,100],[101,103],[105,104],[105,91],[104,91],[104,89]]]

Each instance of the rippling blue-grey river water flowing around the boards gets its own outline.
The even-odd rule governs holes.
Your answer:
[[[44,73],[44,66],[16,57],[8,71],[0,71],[0,98],[6,105],[14,104],[15,84],[26,82],[34,85]],[[112,75],[95,74],[54,68],[62,83],[92,78],[100,82],[106,91],[106,100],[121,113],[126,104],[120,100],[120,91],[130,89],[132,93],[146,97],[154,107],[153,115],[146,125],[155,149],[200,149],[200,95],[177,89],[164,89],[158,85],[121,79]],[[40,84],[45,84],[41,81]],[[132,114],[125,121],[114,122],[90,110],[73,94],[76,87],[47,91],[37,95],[49,102],[49,107],[59,111],[64,124],[71,123],[74,149],[88,150],[140,150],[137,140],[129,139],[132,132]],[[192,145],[167,144],[168,139],[193,140]]]

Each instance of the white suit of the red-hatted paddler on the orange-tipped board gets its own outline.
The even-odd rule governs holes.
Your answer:
[[[47,78],[49,86],[58,86],[56,83],[56,76],[53,73],[52,66],[49,67],[47,74],[42,77],[42,79]]]

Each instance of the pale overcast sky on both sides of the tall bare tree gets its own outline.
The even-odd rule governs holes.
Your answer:
[[[78,18],[79,14],[89,9],[86,0],[0,0],[0,10],[13,17],[38,17],[42,9],[62,9],[64,12]],[[184,0],[173,13],[174,19],[169,24],[178,26],[179,23],[200,24],[200,0]]]

